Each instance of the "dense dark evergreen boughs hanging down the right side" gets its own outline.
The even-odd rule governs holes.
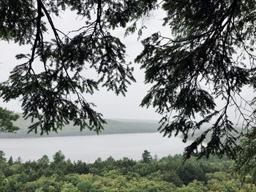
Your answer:
[[[241,96],[245,85],[255,89],[255,1],[164,1],[162,9],[170,36],[157,32],[144,39],[136,58],[146,70],[146,83],[153,84],[141,105],[155,107],[163,115],[159,130],[182,134],[184,142],[208,126],[186,148],[187,157],[227,153],[235,158],[236,129],[255,127],[254,101]],[[216,99],[223,106],[216,106]],[[234,110],[241,117],[236,125],[229,118]],[[203,145],[206,135],[210,140]]]

